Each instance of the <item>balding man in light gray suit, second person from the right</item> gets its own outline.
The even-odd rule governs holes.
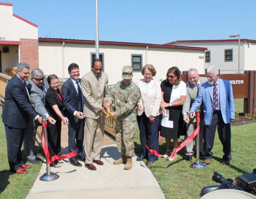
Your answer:
[[[198,94],[198,89],[199,86],[206,82],[207,78],[206,77],[199,77],[198,71],[196,68],[190,68],[188,71],[188,81],[186,83],[187,86],[187,96],[185,103],[183,104],[183,109],[182,109],[182,114],[183,114],[183,120],[187,123],[187,135],[185,139],[187,139],[188,136],[190,136],[194,129],[195,129],[195,122],[196,119],[190,120],[188,118],[188,113],[189,109],[191,108],[191,105],[195,101],[197,94]],[[203,156],[203,130],[204,130],[204,120],[203,120],[203,112],[202,112],[202,107],[200,108],[201,110],[201,117],[200,117],[200,132],[199,132],[199,150],[200,150],[200,155]],[[185,146],[185,159],[186,160],[191,160],[192,155],[194,154],[193,151],[193,141],[189,142]]]

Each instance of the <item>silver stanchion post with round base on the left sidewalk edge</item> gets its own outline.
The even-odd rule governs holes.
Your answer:
[[[42,116],[42,122],[46,123],[46,116],[45,115]],[[42,130],[44,132],[44,135],[42,135],[42,136],[45,136],[45,142],[46,142],[46,146],[48,148],[47,129],[44,126],[42,126]],[[50,164],[48,163],[48,160],[47,160],[47,157],[46,157],[46,173],[41,175],[39,180],[44,181],[44,182],[50,182],[50,181],[53,181],[53,180],[57,180],[59,177],[60,176],[58,174],[56,174],[54,172],[51,172],[51,167],[50,167]]]

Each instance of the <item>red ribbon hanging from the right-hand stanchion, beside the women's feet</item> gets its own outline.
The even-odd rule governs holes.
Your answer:
[[[200,112],[196,112],[196,124],[200,123]],[[200,125],[196,128],[196,130],[186,139],[184,140],[183,143],[180,144],[178,148],[176,148],[173,152],[171,157],[172,158],[177,152],[179,152],[181,149],[183,149],[189,142],[193,141],[193,139],[196,137],[196,135],[200,131]],[[148,142],[147,142],[148,143]],[[164,157],[163,155],[159,154],[156,150],[149,149],[148,145],[146,144],[146,148],[148,149],[149,152],[151,152],[153,155],[156,155],[158,157]]]

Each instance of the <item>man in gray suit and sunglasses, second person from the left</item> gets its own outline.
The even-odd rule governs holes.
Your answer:
[[[33,69],[31,71],[31,78],[27,81],[27,88],[32,107],[39,115],[46,115],[46,119],[50,124],[54,124],[54,119],[49,116],[45,109],[44,98],[49,86],[42,70]],[[38,126],[39,123],[30,117],[23,141],[25,156],[27,161],[32,164],[39,164],[35,153],[35,136]]]

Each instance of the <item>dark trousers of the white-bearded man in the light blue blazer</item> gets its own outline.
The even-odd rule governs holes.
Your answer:
[[[230,123],[225,124],[221,112],[213,112],[212,121],[210,125],[204,125],[204,158],[212,158],[212,148],[214,144],[214,137],[216,126],[218,128],[218,135],[223,146],[222,159],[231,160],[231,129]]]

